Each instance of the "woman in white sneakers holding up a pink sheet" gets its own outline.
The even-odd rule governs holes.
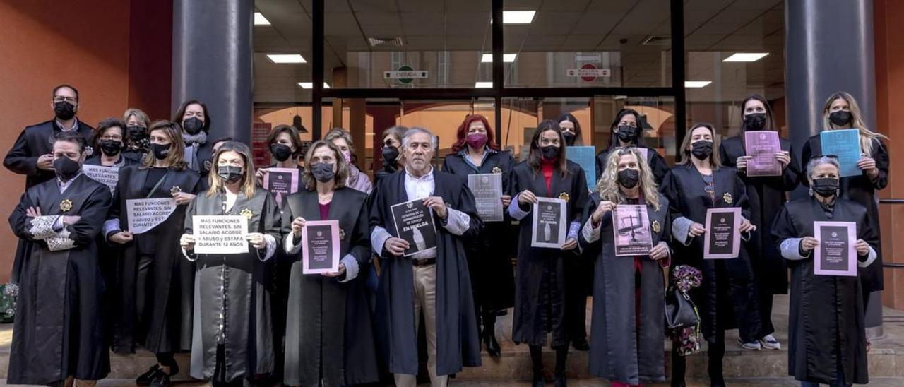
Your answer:
[[[757,335],[758,340],[741,347],[747,350],[779,349],[781,344],[772,335],[776,331],[772,326],[772,295],[787,293],[787,268],[763,225],[772,224],[778,209],[785,203],[785,194],[797,187],[800,162],[791,142],[778,137],[778,128],[766,99],[758,94],[751,95],[741,102],[741,109],[743,130],[739,136],[730,137],[719,146],[722,165],[738,169],[750,203],[750,222],[757,227],[750,233],[747,252],[751,257],[759,257],[751,263],[757,278],[762,332]],[[764,142],[775,147],[770,151],[771,155],[758,154],[754,159],[752,153],[748,154],[748,151],[758,152],[757,147]]]

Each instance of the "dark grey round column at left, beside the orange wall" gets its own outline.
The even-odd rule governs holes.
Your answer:
[[[204,102],[212,139],[249,142],[253,16],[253,0],[174,0],[173,111],[186,99]]]

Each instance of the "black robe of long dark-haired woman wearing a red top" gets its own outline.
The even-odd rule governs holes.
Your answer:
[[[558,170],[552,171],[549,192],[540,171],[534,172],[526,161],[515,165],[509,178],[512,201],[516,201],[515,195],[524,190],[531,190],[537,197],[563,199],[567,195],[565,207],[568,213],[565,219],[569,224],[566,227],[571,222],[580,222],[589,196],[587,179],[580,165],[572,161],[567,163],[565,176]],[[553,347],[568,345],[565,260],[577,260],[579,249],[564,251],[531,247],[532,213],[528,213],[518,224],[520,233],[512,340],[517,344],[545,345],[546,334],[551,332]]]

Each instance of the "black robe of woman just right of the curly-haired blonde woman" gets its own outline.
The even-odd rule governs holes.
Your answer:
[[[706,210],[710,208],[740,207],[744,218],[750,219],[747,190],[734,168],[714,169],[715,203],[703,191],[706,185],[697,168],[692,164],[675,165],[665,175],[660,187],[669,200],[670,222],[684,217],[706,224]],[[741,235],[744,238],[744,235]],[[757,285],[753,268],[741,243],[738,258],[730,260],[703,260],[703,235],[684,241],[674,241],[673,265],[690,265],[700,269],[703,275],[699,288],[691,290],[691,297],[700,312],[703,335],[714,340],[717,326],[721,329],[739,329],[745,343],[756,340],[760,332]]]

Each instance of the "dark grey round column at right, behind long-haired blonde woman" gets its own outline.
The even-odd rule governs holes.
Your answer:
[[[806,139],[822,131],[823,104],[835,91],[851,93],[866,125],[876,130],[872,17],[872,0],[785,2],[787,125],[798,156]],[[805,194],[799,188],[794,196]],[[867,335],[881,335],[881,326],[881,292],[874,292]]]

